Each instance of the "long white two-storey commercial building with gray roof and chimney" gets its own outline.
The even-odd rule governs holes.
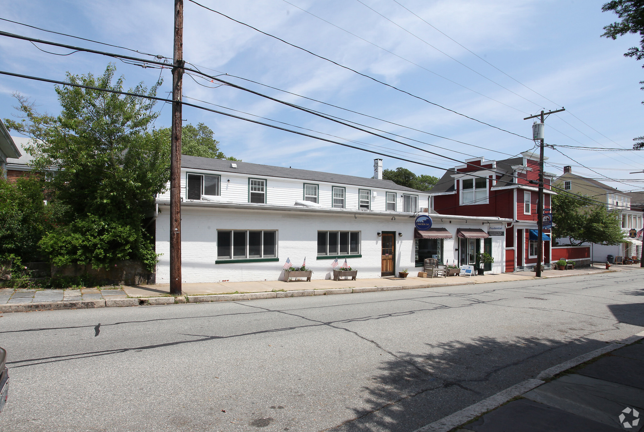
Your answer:
[[[306,259],[314,279],[329,279],[336,259],[361,278],[415,276],[424,258],[458,262],[458,237],[491,252],[488,271],[504,271],[505,238],[488,232],[511,220],[431,214],[433,227],[419,231],[428,197],[382,180],[381,160],[361,178],[182,156],[182,281],[283,279],[287,259]],[[156,283],[169,283],[168,193],[156,209]]]

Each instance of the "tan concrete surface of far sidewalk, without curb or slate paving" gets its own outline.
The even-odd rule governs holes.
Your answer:
[[[420,268],[418,269],[420,270]],[[417,270],[417,271],[418,271]],[[416,272],[417,272],[416,271]],[[562,277],[562,276],[583,276],[587,274],[598,274],[607,270],[597,267],[578,268],[575,270],[545,270],[542,277]],[[618,271],[618,270],[608,270]],[[412,273],[410,273],[412,274]],[[414,273],[415,274],[415,273]],[[536,279],[534,272],[516,272],[501,274],[486,274],[485,276],[453,276],[453,277],[415,277],[408,276],[406,279],[398,277],[375,277],[358,279],[355,281],[333,281],[331,279],[311,279],[307,281],[254,281],[254,282],[212,282],[212,283],[184,283],[182,290],[186,296],[204,296],[208,294],[233,294],[233,293],[251,293],[251,292],[270,292],[278,290],[323,290],[331,288],[365,288],[368,286],[401,286],[417,287],[417,285],[445,286],[445,285],[465,285],[471,283],[490,283],[490,282],[507,282],[507,281],[524,281]],[[169,294],[169,284],[158,285],[140,285],[124,286],[123,290],[130,297],[154,297]]]

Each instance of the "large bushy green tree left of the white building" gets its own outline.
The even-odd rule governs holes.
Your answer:
[[[123,91],[110,64],[99,77],[67,74],[68,82]],[[156,95],[143,83],[129,89]],[[59,167],[46,179],[61,210],[56,226],[39,242],[58,266],[70,263],[102,267],[136,259],[151,270],[156,254],[142,220],[155,194],[169,178],[169,149],[153,129],[155,101],[106,91],[56,86],[61,104],[57,116],[41,114],[17,95],[23,120],[5,120],[10,129],[28,135],[36,170]]]

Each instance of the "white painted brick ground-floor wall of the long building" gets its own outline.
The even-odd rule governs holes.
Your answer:
[[[169,283],[169,206],[160,205],[156,220],[156,253],[162,254],[156,268],[156,283]],[[475,227],[473,223],[435,223],[453,233],[453,239],[444,241],[444,259],[457,259],[455,233],[458,227]],[[476,225],[486,229],[487,225]],[[215,264],[218,229],[278,230],[278,262]],[[283,279],[282,267],[287,258],[299,266],[307,258],[307,267],[314,271],[314,279],[328,279],[332,259],[317,259],[318,230],[361,231],[362,258],[349,258],[348,264],[359,270],[358,277],[380,277],[381,238],[377,232],[402,232],[395,236],[395,270],[408,268],[415,276],[415,247],[413,219],[365,214],[308,214],[278,211],[241,211],[225,209],[182,208],[182,279],[185,283],[216,281],[261,281]],[[492,270],[504,271],[505,238],[492,239],[495,258]],[[343,262],[344,259],[339,259]]]

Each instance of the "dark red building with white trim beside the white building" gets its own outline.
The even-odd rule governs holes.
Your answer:
[[[544,158],[547,159],[547,158]],[[473,158],[465,165],[454,168],[442,176],[431,189],[431,207],[439,214],[463,216],[497,216],[512,219],[505,225],[506,272],[533,270],[536,264],[538,236],[536,232],[536,204],[538,200],[539,156],[524,152],[520,157],[506,160]],[[550,208],[550,183],[554,174],[545,173],[544,208]],[[489,232],[495,231],[489,229]],[[498,227],[497,227],[498,231]],[[542,238],[545,267],[551,263],[550,230]],[[464,239],[466,240],[466,239]],[[461,241],[459,249],[468,247],[480,250],[476,243]],[[466,254],[459,253],[467,259]],[[460,265],[468,264],[462,262]]]

